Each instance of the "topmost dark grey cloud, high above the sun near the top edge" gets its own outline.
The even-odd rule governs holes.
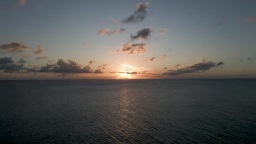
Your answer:
[[[136,22],[141,22],[145,19],[147,15],[146,8],[148,7],[149,3],[146,2],[145,4],[138,3],[137,9],[135,12],[130,15],[129,17],[125,18],[121,22],[123,23],[136,23]]]

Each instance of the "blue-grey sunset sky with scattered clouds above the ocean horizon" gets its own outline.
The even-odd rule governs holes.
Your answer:
[[[0,80],[256,78],[253,0],[0,3]]]

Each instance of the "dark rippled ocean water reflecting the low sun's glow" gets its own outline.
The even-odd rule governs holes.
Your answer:
[[[0,143],[256,143],[256,80],[0,81]]]

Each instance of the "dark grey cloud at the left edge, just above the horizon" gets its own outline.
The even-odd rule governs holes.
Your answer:
[[[24,63],[26,63],[24,59],[20,59],[19,62],[14,62],[11,57],[3,57],[0,58],[0,70],[3,70],[4,73],[19,72],[20,70],[25,69],[23,65]]]

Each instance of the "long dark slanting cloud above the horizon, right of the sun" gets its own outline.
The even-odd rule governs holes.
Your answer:
[[[171,69],[164,73],[164,75],[182,75],[184,73],[203,73],[206,70],[210,70],[211,68],[218,67],[219,65],[224,64],[223,62],[214,63],[214,62],[206,62],[205,59],[202,59],[200,63],[192,64],[190,66],[181,68],[181,69]]]

